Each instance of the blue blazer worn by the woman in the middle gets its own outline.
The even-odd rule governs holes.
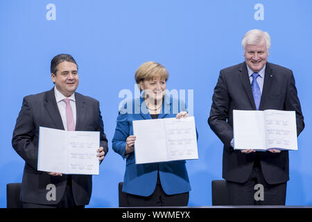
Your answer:
[[[129,108],[129,105],[132,105],[132,108]],[[125,112],[127,108],[128,112]],[[180,111],[186,111],[184,103],[169,99],[166,95],[158,118],[173,118]],[[142,98],[128,101],[128,104],[126,103],[119,110],[112,148],[121,157],[126,158],[123,191],[128,194],[150,196],[156,187],[158,171],[162,189],[166,194],[182,194],[190,191],[191,186],[184,160],[135,164],[135,152],[125,157],[125,140],[133,135],[132,121],[141,119],[151,119]]]

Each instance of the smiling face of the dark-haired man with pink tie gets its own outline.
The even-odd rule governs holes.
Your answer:
[[[60,62],[56,68],[56,73],[51,74],[55,87],[64,96],[71,96],[77,89],[79,84],[77,66],[73,62]]]

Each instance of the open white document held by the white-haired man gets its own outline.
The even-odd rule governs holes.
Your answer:
[[[297,150],[295,111],[233,110],[234,149]]]

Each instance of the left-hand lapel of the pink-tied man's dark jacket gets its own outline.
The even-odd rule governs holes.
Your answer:
[[[49,113],[55,128],[59,130],[64,130],[62,117],[60,115],[60,110],[58,110],[58,104],[56,103],[54,88],[46,92],[44,96],[44,107]]]

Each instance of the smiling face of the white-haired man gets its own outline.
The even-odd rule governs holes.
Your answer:
[[[268,49],[264,38],[259,44],[246,44],[244,57],[245,62],[254,72],[259,72],[268,61]]]

